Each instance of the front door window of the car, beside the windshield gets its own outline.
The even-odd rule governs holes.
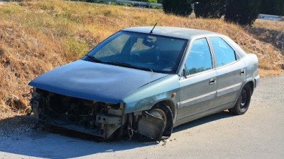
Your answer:
[[[185,65],[187,76],[212,69],[212,58],[205,38],[195,40],[192,43]]]

